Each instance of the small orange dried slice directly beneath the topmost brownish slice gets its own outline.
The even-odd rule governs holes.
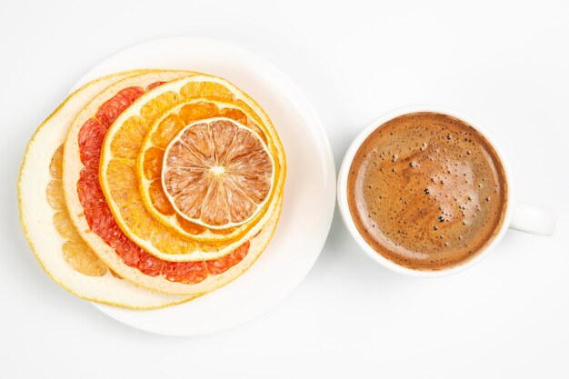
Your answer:
[[[158,221],[170,227],[177,234],[199,241],[222,242],[235,240],[244,235],[255,223],[247,223],[225,229],[210,229],[186,220],[175,212],[175,208],[166,197],[162,185],[162,160],[165,147],[189,123],[205,118],[223,116],[248,126],[266,142],[263,129],[255,122],[250,110],[238,105],[215,100],[197,98],[187,103],[176,105],[172,110],[158,117],[145,137],[136,162],[136,175],[140,184],[140,193],[145,207]],[[258,118],[258,117],[257,117]],[[265,128],[266,130],[266,128]],[[266,208],[266,207],[265,207]],[[265,214],[262,210],[257,217]]]

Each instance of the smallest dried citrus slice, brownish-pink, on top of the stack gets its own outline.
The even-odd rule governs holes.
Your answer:
[[[224,117],[185,126],[165,149],[162,185],[186,220],[212,229],[245,224],[265,205],[275,163],[259,135]]]

